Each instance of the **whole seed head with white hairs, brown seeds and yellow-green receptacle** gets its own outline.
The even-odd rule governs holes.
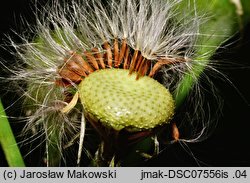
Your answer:
[[[191,68],[200,26],[195,8],[185,11],[180,3],[53,0],[37,11],[35,38],[21,36],[20,45],[11,40],[21,64],[10,80],[27,84],[26,130],[39,127],[49,137],[54,129],[61,148],[79,133],[83,114],[118,131],[169,123],[171,92]],[[72,99],[73,114],[63,112]]]

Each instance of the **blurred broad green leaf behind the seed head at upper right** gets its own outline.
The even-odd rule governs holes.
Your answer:
[[[197,42],[200,48],[198,48],[194,59],[196,64],[194,64],[190,73],[185,75],[175,91],[177,107],[181,106],[215,51],[222,43],[241,31],[243,22],[242,17],[237,13],[236,4],[232,0],[196,0],[183,1],[183,3],[183,8],[195,3],[195,6],[193,6],[196,7],[197,13],[205,14],[207,20],[201,25],[201,36]],[[242,4],[244,4],[243,20],[246,24],[249,21],[250,2],[242,0]]]

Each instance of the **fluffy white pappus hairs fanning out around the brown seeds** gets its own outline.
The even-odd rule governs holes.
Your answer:
[[[115,50],[116,41],[120,47],[125,42],[131,52],[139,51],[147,59],[147,75],[150,75],[150,70],[154,69],[159,60],[174,60],[158,68],[158,75],[152,74],[152,77],[173,92],[184,74],[192,73],[203,21],[202,16],[196,12],[195,3],[187,3],[186,9],[180,9],[182,1],[78,0],[64,4],[53,0],[42,10],[37,9],[36,26],[29,27],[34,36],[21,35],[22,44],[16,44],[10,39],[19,61],[8,68],[12,73],[8,81],[18,83],[24,91],[23,107],[29,113],[24,132],[35,129],[41,136],[45,136],[45,141],[51,133],[57,133],[59,139],[52,143],[58,149],[79,136],[82,107],[76,106],[69,113],[61,112],[69,102],[68,97],[72,98],[77,91],[77,83],[69,78],[64,84],[69,84],[70,88],[58,84],[57,81],[65,80],[60,69],[74,53],[82,55],[95,48],[98,53],[107,55],[109,50]],[[108,46],[105,47],[105,43]],[[115,59],[113,55],[112,60]],[[105,66],[115,67],[114,62],[105,62]],[[125,67],[124,64],[121,67]],[[197,76],[194,74],[193,77]],[[202,93],[198,84],[195,86],[197,94]],[[188,120],[180,121],[180,131],[186,123],[194,127],[190,136],[180,139],[183,142],[204,139],[206,128],[210,125],[210,119],[203,119],[201,96],[196,97],[194,114],[186,111],[189,119],[186,116]],[[198,110],[201,112],[197,113]],[[195,118],[201,118],[198,124],[192,123]],[[196,125],[199,126],[197,129],[201,129],[198,132],[195,131]]]

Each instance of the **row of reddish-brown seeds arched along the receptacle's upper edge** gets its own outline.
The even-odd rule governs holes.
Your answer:
[[[159,58],[149,60],[139,50],[132,49],[125,39],[114,39],[113,44],[104,42],[102,50],[94,47],[89,51],[81,53],[71,52],[65,58],[64,64],[58,69],[61,79],[57,84],[68,86],[72,83],[79,84],[90,73],[99,69],[122,68],[128,69],[129,73],[136,72],[137,78],[142,76],[154,77],[154,75],[165,65],[186,62],[183,57]]]

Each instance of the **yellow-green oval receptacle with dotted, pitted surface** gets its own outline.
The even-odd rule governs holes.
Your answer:
[[[124,69],[98,70],[79,85],[85,112],[115,130],[140,131],[167,123],[174,114],[169,90],[144,76],[136,80]]]

